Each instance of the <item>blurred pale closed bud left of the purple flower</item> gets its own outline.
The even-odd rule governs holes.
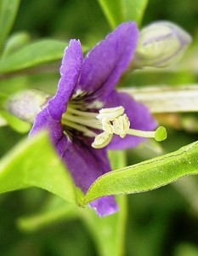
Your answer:
[[[28,123],[33,123],[37,113],[44,108],[50,95],[42,90],[23,90],[6,102],[9,113]]]

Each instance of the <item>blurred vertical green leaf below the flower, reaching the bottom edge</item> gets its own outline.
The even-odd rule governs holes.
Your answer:
[[[110,162],[113,169],[126,166],[126,152],[111,151]],[[121,256],[124,251],[124,233],[127,218],[127,198],[125,195],[116,198],[120,211],[113,215],[99,218],[93,210],[82,210],[82,218],[93,235],[93,239],[98,247],[99,255]]]

